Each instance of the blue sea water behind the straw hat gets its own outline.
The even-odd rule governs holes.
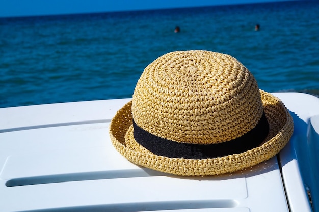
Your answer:
[[[191,49],[234,56],[268,92],[319,95],[319,2],[0,18],[0,107],[129,98],[149,63]]]

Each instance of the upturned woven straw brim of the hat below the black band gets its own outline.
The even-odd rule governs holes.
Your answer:
[[[281,100],[263,90],[260,90],[260,95],[270,127],[269,134],[258,147],[243,153],[207,159],[169,158],[155,155],[134,139],[131,101],[124,105],[111,120],[111,141],[127,160],[150,169],[176,175],[217,175],[252,167],[279,153],[294,130],[293,118]]]

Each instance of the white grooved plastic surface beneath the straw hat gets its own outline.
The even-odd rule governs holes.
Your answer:
[[[304,115],[308,95],[276,95],[289,109],[300,95],[304,102],[293,110]],[[174,176],[127,161],[108,128],[128,101],[0,109],[0,211],[288,211],[276,157],[210,177]],[[306,203],[291,211],[307,211]]]

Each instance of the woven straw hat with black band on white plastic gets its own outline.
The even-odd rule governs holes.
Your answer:
[[[283,103],[230,55],[176,51],[149,64],[110,124],[129,161],[177,175],[215,175],[275,156],[293,133]]]

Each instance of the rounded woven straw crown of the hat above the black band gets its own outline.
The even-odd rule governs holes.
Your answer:
[[[136,85],[132,117],[171,141],[214,144],[241,137],[263,113],[257,82],[230,55],[177,51],[148,65]]]

